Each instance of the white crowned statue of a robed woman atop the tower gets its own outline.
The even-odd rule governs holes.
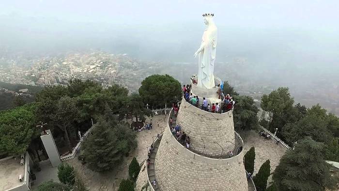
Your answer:
[[[198,87],[211,89],[214,82],[214,61],[216,60],[216,24],[214,24],[214,14],[204,14],[206,29],[202,34],[200,48],[194,53],[194,57],[199,58]]]

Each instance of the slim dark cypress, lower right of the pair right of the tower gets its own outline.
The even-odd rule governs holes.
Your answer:
[[[257,191],[265,191],[267,186],[267,179],[271,173],[270,160],[266,160],[260,167],[258,173],[253,178],[254,185],[257,188]]]

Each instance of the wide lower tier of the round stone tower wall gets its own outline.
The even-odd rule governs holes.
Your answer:
[[[243,151],[229,159],[196,155],[167,127],[155,158],[155,177],[161,191],[247,191],[243,157]]]

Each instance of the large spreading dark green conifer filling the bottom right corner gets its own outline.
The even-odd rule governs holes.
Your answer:
[[[273,181],[279,191],[325,191],[335,186],[324,160],[324,143],[306,137],[280,159]]]

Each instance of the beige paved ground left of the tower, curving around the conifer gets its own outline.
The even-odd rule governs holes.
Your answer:
[[[168,115],[167,115],[168,116]],[[150,122],[151,118],[147,118],[146,123]],[[120,181],[123,178],[128,178],[128,165],[133,157],[136,157],[138,162],[141,163],[147,157],[147,146],[150,146],[153,142],[153,136],[156,137],[157,133],[163,131],[166,127],[167,118],[165,115],[158,115],[152,117],[153,129],[143,130],[138,132],[137,149],[130,153],[128,157],[125,157],[120,166],[107,173],[94,172],[87,168],[86,165],[82,165],[77,159],[71,159],[67,162],[72,164],[75,169],[83,176],[86,185],[90,191],[117,191],[119,189]],[[159,127],[157,123],[159,122]],[[155,139],[155,138],[154,138]]]

